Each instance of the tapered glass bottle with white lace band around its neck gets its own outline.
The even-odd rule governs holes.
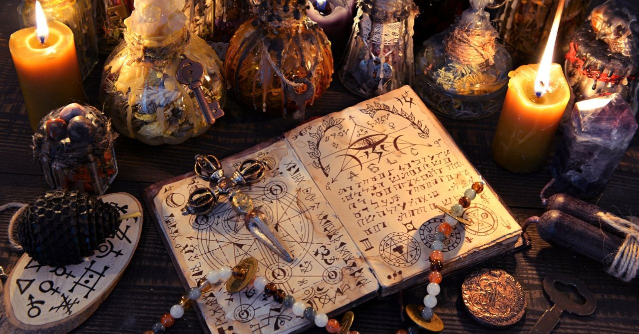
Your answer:
[[[339,72],[344,87],[369,98],[412,84],[416,16],[412,0],[361,0]]]

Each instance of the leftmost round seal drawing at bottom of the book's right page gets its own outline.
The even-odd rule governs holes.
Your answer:
[[[419,260],[422,253],[417,240],[404,232],[392,232],[381,239],[380,255],[388,264],[405,268]]]

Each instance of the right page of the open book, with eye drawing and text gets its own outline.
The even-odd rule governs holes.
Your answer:
[[[430,243],[443,222],[435,205],[450,208],[481,180],[409,86],[316,119],[285,137],[382,289],[430,270]],[[444,263],[484,248],[504,248],[521,234],[488,185],[464,218],[472,226],[456,225],[445,241]]]

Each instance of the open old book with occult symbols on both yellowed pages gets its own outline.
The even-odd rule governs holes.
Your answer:
[[[222,160],[226,174],[247,158],[265,160],[268,173],[243,192],[269,216],[295,261],[284,262],[256,241],[226,199],[208,216],[182,216],[189,193],[206,186],[185,174],[145,194],[183,284],[196,286],[210,269],[251,256],[258,275],[327,314],[425,284],[429,247],[443,222],[435,206],[449,208],[481,179],[409,86],[230,156]],[[457,224],[445,241],[444,275],[526,243],[489,185],[464,218],[472,226]],[[235,294],[215,285],[198,308],[213,333],[314,326],[252,285]]]

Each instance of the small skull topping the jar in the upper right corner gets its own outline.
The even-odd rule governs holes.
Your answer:
[[[636,6],[636,5],[635,5]],[[608,0],[590,13],[590,24],[597,39],[608,43],[612,52],[635,57],[638,48],[636,35],[639,23],[636,8],[623,0]]]

